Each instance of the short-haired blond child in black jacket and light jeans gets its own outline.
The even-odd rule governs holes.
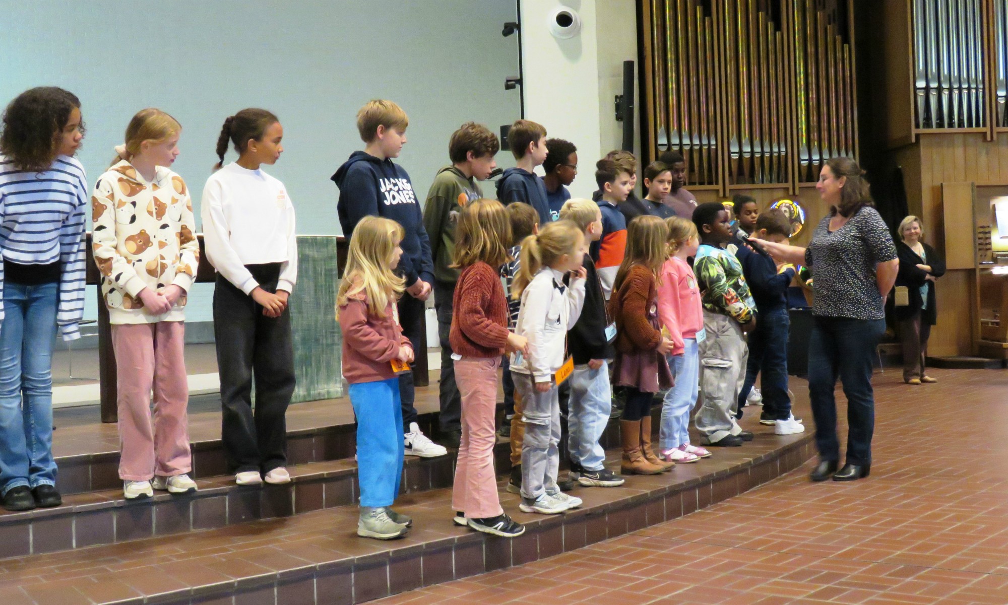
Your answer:
[[[560,219],[571,221],[585,234],[585,242],[602,237],[602,210],[591,200],[571,200],[560,210]],[[582,485],[616,487],[623,479],[606,469],[606,452],[599,440],[609,425],[612,396],[609,364],[615,326],[602,295],[602,282],[592,257],[585,255],[585,305],[568,332],[568,349],[574,356],[571,403],[568,412],[568,452],[571,474]]]

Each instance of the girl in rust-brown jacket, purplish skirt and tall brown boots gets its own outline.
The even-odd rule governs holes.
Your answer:
[[[667,239],[665,223],[658,217],[630,221],[626,257],[609,301],[617,333],[613,380],[627,387],[620,418],[624,475],[654,475],[675,466],[651,450],[651,400],[654,393],[672,384],[665,361],[672,341],[661,334],[656,281],[665,262]]]

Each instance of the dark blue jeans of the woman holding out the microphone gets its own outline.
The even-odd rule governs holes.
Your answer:
[[[847,395],[847,462],[865,465],[872,461],[872,360],[883,334],[885,320],[813,318],[808,342],[808,395],[815,418],[815,446],[824,462],[840,460],[834,397],[838,377]]]

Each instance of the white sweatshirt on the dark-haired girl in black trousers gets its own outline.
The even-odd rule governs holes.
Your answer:
[[[207,179],[200,214],[207,258],[235,287],[248,294],[259,285],[245,265],[279,262],[276,289],[293,291],[294,207],[282,183],[261,168],[229,163]]]

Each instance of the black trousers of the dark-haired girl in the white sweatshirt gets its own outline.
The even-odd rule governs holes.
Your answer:
[[[275,292],[280,263],[247,265]],[[230,473],[269,471],[287,463],[284,415],[294,392],[290,313],[262,315],[258,305],[221,274],[214,289],[214,337],[221,375],[221,440]],[[255,376],[255,408],[252,377]]]

